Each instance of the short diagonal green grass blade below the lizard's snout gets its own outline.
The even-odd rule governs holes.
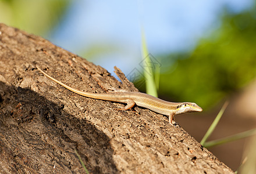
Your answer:
[[[219,114],[216,116],[216,118],[214,119],[214,122],[212,122],[212,125],[209,127],[208,131],[205,133],[204,137],[201,140],[201,144],[202,146],[205,147],[205,142],[208,139],[209,136],[211,136],[212,132],[214,132],[214,129],[216,128],[216,126],[218,125],[219,120],[222,117],[222,114],[224,113],[224,111],[226,110],[227,105],[229,104],[229,102],[225,102],[221,108],[221,111],[219,111]]]

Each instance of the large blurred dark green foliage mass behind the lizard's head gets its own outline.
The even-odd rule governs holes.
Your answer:
[[[256,8],[240,14],[225,12],[222,25],[201,39],[190,53],[163,56],[159,95],[210,107],[256,75]]]

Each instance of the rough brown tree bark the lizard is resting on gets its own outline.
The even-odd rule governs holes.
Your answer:
[[[76,95],[35,64],[87,92],[136,90],[41,37],[0,24],[1,173],[84,173],[74,150],[90,173],[233,173],[163,115],[113,110],[123,104]]]

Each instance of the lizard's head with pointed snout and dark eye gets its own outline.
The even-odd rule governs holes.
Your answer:
[[[192,113],[192,112],[201,112],[202,108],[195,103],[180,103],[176,110],[174,111],[175,115],[184,114],[184,113]]]

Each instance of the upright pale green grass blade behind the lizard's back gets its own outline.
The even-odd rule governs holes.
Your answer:
[[[143,72],[145,77],[145,85],[146,85],[146,93],[151,96],[158,97],[157,87],[154,81],[154,73],[152,70],[152,63],[150,60],[150,56],[147,49],[147,43],[145,40],[144,30],[141,29],[141,48],[142,48],[142,56],[143,56]]]

